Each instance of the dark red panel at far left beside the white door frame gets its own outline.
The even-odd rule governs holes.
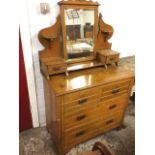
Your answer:
[[[23,57],[22,42],[19,31],[19,131],[32,128],[30,101]]]

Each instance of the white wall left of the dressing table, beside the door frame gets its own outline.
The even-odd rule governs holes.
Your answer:
[[[45,103],[44,103],[44,90],[43,79],[40,74],[38,51],[43,49],[43,46],[39,43],[37,35],[38,32],[55,23],[55,17],[59,13],[59,8],[56,5],[57,1],[46,1],[50,4],[50,13],[42,15],[40,13],[40,3],[45,2],[42,0],[25,0],[26,8],[29,17],[29,30],[31,38],[31,49],[33,57],[33,65],[35,72],[35,85],[38,103],[39,123],[41,126],[45,125]]]

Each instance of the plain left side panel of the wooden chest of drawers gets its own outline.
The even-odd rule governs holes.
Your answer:
[[[47,130],[52,136],[56,151],[61,154],[63,150],[61,141],[61,104],[62,97],[56,96],[55,92],[51,89],[48,81],[44,78],[44,96],[45,96],[45,110],[46,110],[46,126]]]

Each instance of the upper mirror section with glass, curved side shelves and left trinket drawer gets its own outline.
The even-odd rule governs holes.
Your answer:
[[[60,15],[56,23],[38,34],[45,47],[39,52],[41,72],[48,78],[104,65],[97,58],[97,53],[111,49],[108,40],[113,28],[98,14],[100,4],[87,0],[65,0],[58,5]]]

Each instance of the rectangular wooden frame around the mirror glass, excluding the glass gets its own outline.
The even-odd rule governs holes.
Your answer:
[[[98,31],[98,25],[97,25],[97,23],[98,23],[98,6],[96,6],[96,5],[91,5],[91,6],[90,5],[77,5],[77,4],[76,5],[61,5],[60,6],[63,55],[64,55],[64,59],[66,60],[67,64],[94,60],[95,56],[96,56],[94,47],[93,47],[93,56],[68,59],[67,47],[66,47],[66,24],[65,24],[65,10],[66,9],[94,10],[93,40],[94,40],[94,47],[95,47],[95,42],[97,39],[97,31]]]

